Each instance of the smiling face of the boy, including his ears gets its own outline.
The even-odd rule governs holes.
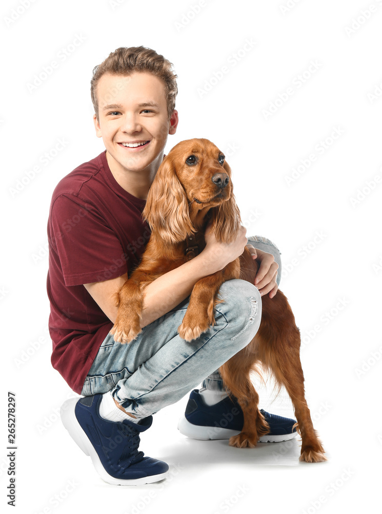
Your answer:
[[[168,119],[162,80],[149,72],[134,72],[128,77],[105,74],[96,94],[99,122],[94,115],[94,125],[97,137],[103,138],[111,171],[155,174],[163,160],[167,136],[175,134],[178,123],[175,110]]]

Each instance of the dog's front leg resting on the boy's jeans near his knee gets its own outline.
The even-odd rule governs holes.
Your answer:
[[[178,327],[179,336],[186,341],[192,341],[206,332],[210,325],[215,324],[214,309],[218,302],[217,294],[223,282],[237,279],[240,273],[238,259],[231,262],[223,270],[217,271],[200,279],[194,285],[190,302]]]

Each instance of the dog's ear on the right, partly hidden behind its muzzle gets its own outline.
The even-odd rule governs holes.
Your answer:
[[[228,163],[224,162],[223,167],[231,180],[231,168],[228,166]],[[216,239],[218,241],[230,243],[241,223],[240,211],[236,205],[235,196],[233,194],[232,181],[230,198],[224,201],[223,204],[213,207],[211,209],[211,214],[212,231],[215,233]]]

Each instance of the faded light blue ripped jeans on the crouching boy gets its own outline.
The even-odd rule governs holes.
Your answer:
[[[248,243],[274,255],[279,283],[281,262],[276,246],[260,236],[248,237]],[[100,345],[82,394],[111,390],[127,412],[142,418],[175,403],[202,381],[207,389],[224,389],[216,370],[255,336],[262,299],[254,285],[239,279],[225,282],[219,298],[224,301],[215,309],[215,325],[191,342],[177,333],[189,299],[144,327],[129,344],[116,343],[109,334]]]

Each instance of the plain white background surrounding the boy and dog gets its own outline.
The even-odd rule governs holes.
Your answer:
[[[10,509],[8,390],[17,400],[18,512],[313,514],[379,504],[382,2],[23,2],[3,2],[0,16],[2,509]],[[50,198],[59,179],[104,150],[92,121],[93,67],[138,45],[163,54],[178,75],[180,122],[167,151],[191,137],[215,142],[248,235],[282,252],[280,288],[303,337],[307,398],[327,463],[299,463],[297,440],[240,450],[186,439],[176,428],[185,397],[142,436],[145,453],[169,463],[169,479],[109,486],[59,420],[73,393],[50,364]],[[44,76],[52,61],[58,67]],[[28,87],[35,75],[44,80]],[[59,139],[66,143],[57,152]],[[263,408],[293,415],[285,394],[270,403],[271,382],[261,396]]]

